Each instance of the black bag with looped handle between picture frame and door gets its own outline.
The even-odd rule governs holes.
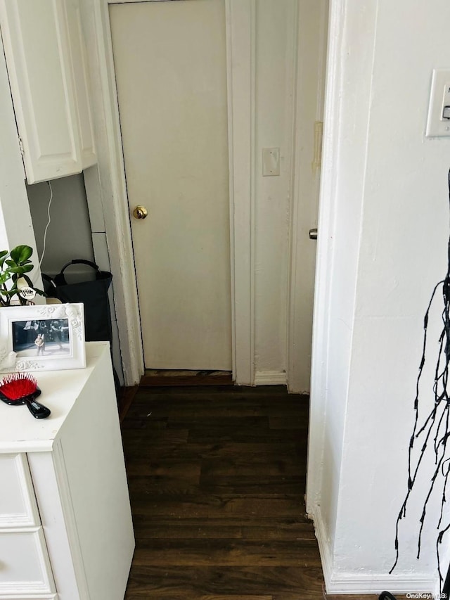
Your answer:
[[[65,280],[65,269],[71,264],[86,264],[95,271],[95,279],[80,283],[68,283]],[[84,330],[86,342],[113,341],[111,313],[108,299],[108,288],[113,275],[101,271],[90,260],[82,258],[71,260],[60,270],[53,279],[42,274],[47,296],[58,298],[61,302],[82,302],[84,304]]]

